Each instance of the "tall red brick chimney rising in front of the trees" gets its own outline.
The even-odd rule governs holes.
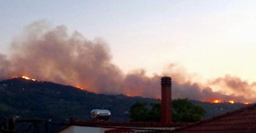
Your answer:
[[[161,122],[172,122],[172,79],[171,77],[161,78]]]

